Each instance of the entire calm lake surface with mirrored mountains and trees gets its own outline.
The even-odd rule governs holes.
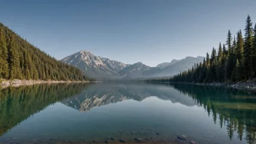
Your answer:
[[[7,88],[0,143],[255,143],[255,110],[255,93],[185,84]]]

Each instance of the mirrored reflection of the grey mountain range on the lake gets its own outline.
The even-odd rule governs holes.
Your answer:
[[[89,111],[95,106],[118,103],[123,100],[142,101],[147,97],[156,96],[161,100],[170,100],[172,103],[183,105],[198,105],[190,97],[178,91],[154,84],[92,84],[84,89],[81,94],[69,97],[62,101],[63,104],[79,111]]]

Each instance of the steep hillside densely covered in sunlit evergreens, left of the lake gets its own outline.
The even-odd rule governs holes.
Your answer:
[[[61,63],[0,23],[0,79],[89,80],[79,69]]]

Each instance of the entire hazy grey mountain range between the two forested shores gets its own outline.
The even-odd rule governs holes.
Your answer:
[[[141,62],[132,65],[121,63],[81,50],[61,61],[79,68],[87,76],[98,80],[130,80],[173,76],[191,68],[195,63],[202,62],[203,59],[204,57],[185,57],[182,60],[172,60],[170,63],[160,63],[156,67],[150,67]]]

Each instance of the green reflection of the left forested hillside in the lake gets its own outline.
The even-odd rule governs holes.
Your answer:
[[[0,89],[0,136],[34,113],[79,94],[86,84],[37,84]]]

